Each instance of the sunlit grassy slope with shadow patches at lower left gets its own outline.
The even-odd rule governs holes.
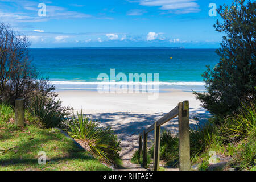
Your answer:
[[[27,125],[20,129],[0,119],[0,170],[110,170],[59,130]],[[47,163],[38,164],[44,151]]]

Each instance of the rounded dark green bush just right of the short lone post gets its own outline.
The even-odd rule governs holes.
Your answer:
[[[55,101],[54,97],[40,94],[31,98],[28,103],[30,112],[39,117],[44,127],[65,127],[65,121],[71,114],[71,108],[61,106],[61,101]]]

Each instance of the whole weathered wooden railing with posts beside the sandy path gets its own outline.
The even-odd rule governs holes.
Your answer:
[[[155,130],[154,135],[154,164],[153,169],[159,170],[159,150],[160,150],[160,126],[175,117],[179,117],[179,169],[180,171],[190,170],[190,148],[189,148],[189,102],[179,102],[179,104],[169,113],[164,115],[158,121],[155,121],[150,127],[139,134],[139,155],[141,159],[142,137],[143,137],[143,167],[147,167],[147,137],[150,131]]]

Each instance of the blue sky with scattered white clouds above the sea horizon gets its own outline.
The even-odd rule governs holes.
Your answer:
[[[39,16],[39,3],[46,16]],[[0,22],[27,35],[31,47],[160,46],[218,48],[220,0],[0,0]],[[225,0],[227,5],[232,0]]]

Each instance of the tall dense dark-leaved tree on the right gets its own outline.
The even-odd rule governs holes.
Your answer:
[[[207,93],[193,92],[210,113],[225,117],[241,107],[242,102],[255,101],[255,27],[256,3],[234,0],[232,6],[217,10],[223,19],[214,28],[225,32],[216,53],[220,62],[202,75]]]

